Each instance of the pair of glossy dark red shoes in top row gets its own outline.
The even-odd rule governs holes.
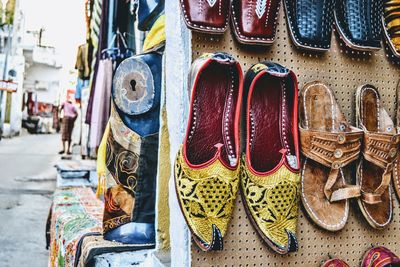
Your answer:
[[[236,39],[243,44],[268,45],[275,41],[279,0],[181,0],[188,28],[222,34],[229,17]]]

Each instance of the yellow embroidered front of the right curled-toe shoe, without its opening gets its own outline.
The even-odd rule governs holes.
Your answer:
[[[282,165],[270,176],[253,174],[242,162],[243,202],[262,239],[276,252],[297,251],[300,176]]]

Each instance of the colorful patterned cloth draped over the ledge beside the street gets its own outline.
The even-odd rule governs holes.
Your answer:
[[[54,192],[49,267],[75,265],[81,238],[102,232],[103,205],[91,188],[66,188]]]

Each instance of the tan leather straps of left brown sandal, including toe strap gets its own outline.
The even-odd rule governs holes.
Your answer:
[[[333,190],[340,175],[341,168],[356,160],[360,154],[363,132],[350,127],[349,132],[321,132],[300,127],[302,153],[330,168],[324,194],[329,201],[359,197],[360,187],[349,186]]]

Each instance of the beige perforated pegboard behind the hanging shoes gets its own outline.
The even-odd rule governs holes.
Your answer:
[[[238,44],[228,30],[223,36],[193,33],[193,59],[202,53],[223,51],[240,61],[246,72],[253,64],[271,60],[292,69],[304,83],[320,80],[335,92],[337,101],[348,120],[355,123],[355,92],[358,86],[375,85],[382,103],[394,118],[396,85],[400,68],[388,59],[385,49],[370,56],[350,52],[338,42],[333,34],[332,47],[323,55],[296,50],[288,36],[283,11],[280,12],[277,40],[270,48],[254,48]],[[352,202],[350,218],[345,229],[329,233],[319,229],[308,220],[301,208],[298,237],[299,251],[281,256],[263,244],[247,218],[240,196],[236,201],[232,221],[222,252],[201,252],[192,243],[193,266],[319,266],[328,255],[345,259],[350,266],[360,266],[364,252],[371,244],[385,245],[400,254],[400,209],[394,199],[393,223],[383,231],[369,227]]]

